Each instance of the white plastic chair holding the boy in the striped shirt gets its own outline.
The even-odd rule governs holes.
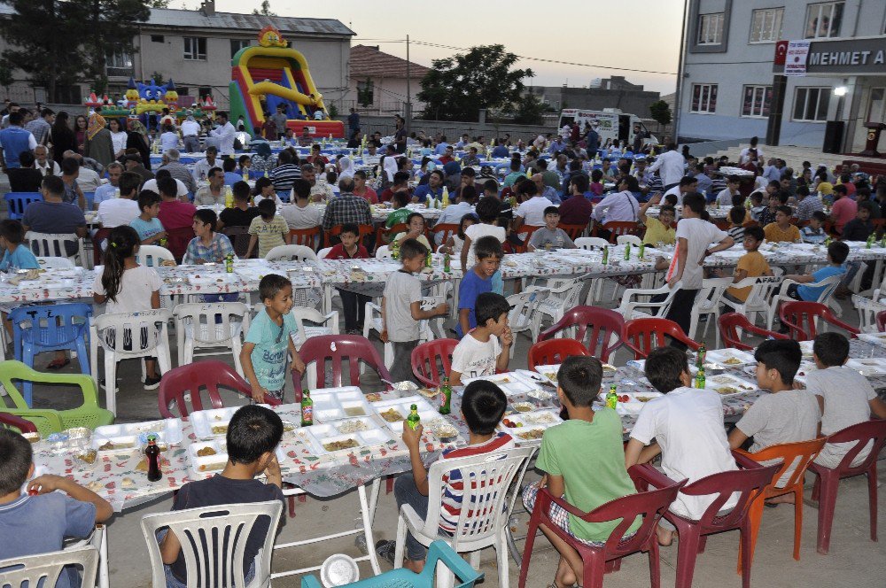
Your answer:
[[[474,569],[479,569],[480,550],[494,547],[498,585],[509,586],[508,488],[532,453],[532,447],[519,447],[432,463],[428,472],[427,516],[423,519],[408,504],[400,507],[394,568],[402,567],[406,535],[412,533],[425,546],[440,539],[457,553],[470,552],[470,565]],[[440,509],[443,494],[447,491],[443,476],[451,477],[455,470],[461,473],[463,481],[462,508],[455,533],[449,537],[439,531]],[[448,588],[453,584],[452,574],[445,567],[438,567],[436,585]]]

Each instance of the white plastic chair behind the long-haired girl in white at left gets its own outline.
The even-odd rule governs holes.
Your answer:
[[[169,331],[172,318],[166,308],[138,313],[100,314],[90,321],[89,348],[92,377],[98,385],[98,347],[105,351],[105,408],[117,414],[117,362],[156,357],[161,374],[172,369]],[[135,337],[135,334],[138,337]],[[144,380],[144,363],[142,378]]]

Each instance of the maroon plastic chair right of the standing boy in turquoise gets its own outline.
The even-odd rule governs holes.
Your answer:
[[[332,347],[335,349],[333,350]],[[311,337],[301,345],[299,356],[305,362],[305,365],[315,362],[315,374],[317,376],[317,388],[326,387],[326,361],[332,364],[332,383],[333,387],[341,386],[341,373],[345,358],[348,359],[347,364],[349,374],[351,376],[351,385],[360,385],[360,363],[371,367],[378,372],[383,380],[391,380],[391,374],[388,372],[385,363],[378,356],[376,348],[369,343],[369,339],[359,335],[318,335]],[[292,372],[292,383],[295,386],[296,398],[300,391],[304,388],[301,383],[301,375],[299,372]],[[391,389],[390,384],[385,384],[388,390]]]

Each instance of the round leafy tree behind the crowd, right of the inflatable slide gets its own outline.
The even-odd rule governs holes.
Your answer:
[[[514,112],[523,79],[534,75],[531,69],[511,71],[515,63],[517,56],[506,52],[504,45],[481,45],[451,58],[434,59],[417,95],[425,104],[422,118],[473,122],[482,108]]]

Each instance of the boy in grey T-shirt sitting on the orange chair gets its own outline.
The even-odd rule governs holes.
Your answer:
[[[769,339],[759,344],[754,359],[757,360],[757,385],[760,390],[772,393],[760,396],[744,413],[729,433],[729,446],[737,449],[753,437],[749,451],[757,453],[772,445],[814,439],[821,420],[818,403],[808,391],[794,389],[794,376],[803,359],[800,344]],[[776,487],[783,487],[793,472],[793,468],[786,470]],[[794,495],[789,494],[770,501],[793,502],[793,499]]]

